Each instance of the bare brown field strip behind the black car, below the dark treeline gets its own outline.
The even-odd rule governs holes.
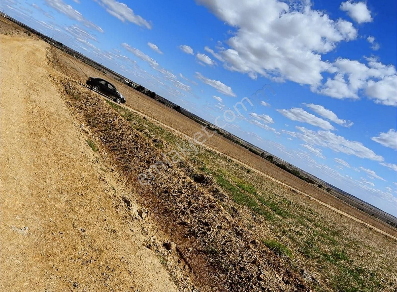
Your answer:
[[[102,72],[84,64],[76,59],[73,59],[65,53],[60,53],[63,58],[59,68],[61,71],[66,72],[68,76],[72,76],[75,80],[85,83],[87,76],[101,77],[104,79],[110,79],[110,76],[103,74]],[[175,110],[161,104],[160,102],[150,99],[146,95],[131,89],[124,83],[118,80],[112,80],[118,90],[126,97],[126,106],[143,114],[155,121],[158,121],[163,126],[175,130],[177,133],[186,135],[187,137],[193,137],[197,132],[202,131],[201,126],[195,121],[179,114]],[[281,184],[291,187],[303,195],[315,199],[324,206],[343,214],[349,218],[352,218],[356,222],[364,224],[380,233],[387,235],[393,239],[397,239],[397,231],[395,228],[388,226],[384,222],[377,220],[369,216],[368,214],[348,205],[342,200],[328,194],[324,190],[320,190],[316,186],[304,182],[303,180],[293,176],[292,174],[283,171],[276,167],[274,164],[261,159],[257,155],[253,154],[249,150],[227,140],[220,135],[214,135],[211,138],[207,138],[205,146],[221,154],[225,154],[228,157],[239,161],[254,169],[256,172],[263,174],[266,177],[272,178]]]

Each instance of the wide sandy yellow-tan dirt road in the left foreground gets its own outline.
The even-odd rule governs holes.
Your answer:
[[[46,45],[0,36],[0,290],[179,291],[50,82]]]

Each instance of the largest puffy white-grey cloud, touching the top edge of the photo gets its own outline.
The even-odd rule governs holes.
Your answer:
[[[224,1],[197,0],[236,32],[221,47],[219,60],[228,70],[282,81],[315,85],[330,64],[321,54],[332,51],[339,42],[357,38],[352,23],[332,20],[324,11],[301,9],[278,0]],[[266,17],[263,14],[266,11]]]

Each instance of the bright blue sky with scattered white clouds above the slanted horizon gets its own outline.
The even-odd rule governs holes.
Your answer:
[[[396,6],[0,3],[12,17],[395,216]],[[275,95],[254,95],[264,86]],[[233,106],[244,97],[253,106],[239,116]],[[225,123],[224,114],[237,118]]]

